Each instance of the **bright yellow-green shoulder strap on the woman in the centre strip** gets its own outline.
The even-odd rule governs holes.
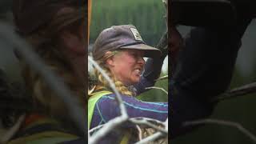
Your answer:
[[[99,98],[102,98],[103,95],[106,94],[112,94],[112,92],[107,91],[107,90],[102,90],[99,92],[96,92],[94,94],[91,94],[92,96],[90,96],[89,101],[88,101],[88,128],[90,129],[90,122],[91,119],[93,118],[93,114],[94,114],[94,107],[96,102],[98,102]]]

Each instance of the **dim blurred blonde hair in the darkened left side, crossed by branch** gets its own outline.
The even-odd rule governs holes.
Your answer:
[[[56,20],[55,20],[56,22]],[[78,25],[82,22],[77,21],[67,26],[62,26],[62,29],[67,30],[78,29]],[[78,96],[79,105],[86,107],[86,101],[84,98],[84,86],[81,85],[74,71],[70,66],[70,62],[66,59],[65,55],[62,54],[60,46],[58,46],[58,32],[53,30],[59,29],[63,23],[56,27],[45,27],[44,29],[38,30],[34,34],[26,36],[26,40],[34,46],[36,53],[44,60],[46,66],[50,68],[55,74],[62,78],[62,81],[70,88],[75,96]],[[76,30],[78,32],[78,30]],[[39,76],[34,70],[23,62],[22,64],[22,76],[26,82],[26,89],[32,98],[34,109],[42,114],[53,116],[56,118],[66,118],[66,106],[61,99],[56,97],[56,94],[50,87],[47,86],[43,78]]]

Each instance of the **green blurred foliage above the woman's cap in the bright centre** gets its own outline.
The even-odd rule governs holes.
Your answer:
[[[160,0],[94,0],[90,43],[107,27],[133,24],[146,43],[156,46],[166,30],[165,14],[165,6]]]

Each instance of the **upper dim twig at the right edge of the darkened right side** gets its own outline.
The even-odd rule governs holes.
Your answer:
[[[238,96],[243,96],[245,94],[252,94],[252,93],[256,93],[256,82],[253,82],[238,88],[234,88],[233,90],[230,90],[224,94],[221,94],[217,98],[213,98],[212,102],[218,102],[218,101],[222,101],[230,98],[237,98]]]

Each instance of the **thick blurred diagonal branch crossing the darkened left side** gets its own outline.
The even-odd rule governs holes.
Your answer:
[[[46,66],[38,54],[34,53],[32,47],[15,34],[13,27],[4,22],[0,22],[0,40],[6,42],[7,46],[14,47],[18,54],[25,60],[25,62],[38,74],[45,79],[47,85],[53,90],[56,96],[64,102],[70,119],[74,122],[79,130],[79,134],[84,136],[86,131],[85,126],[85,112],[82,106],[79,106],[78,99],[74,98],[71,91],[63,84],[60,78],[57,77]]]

